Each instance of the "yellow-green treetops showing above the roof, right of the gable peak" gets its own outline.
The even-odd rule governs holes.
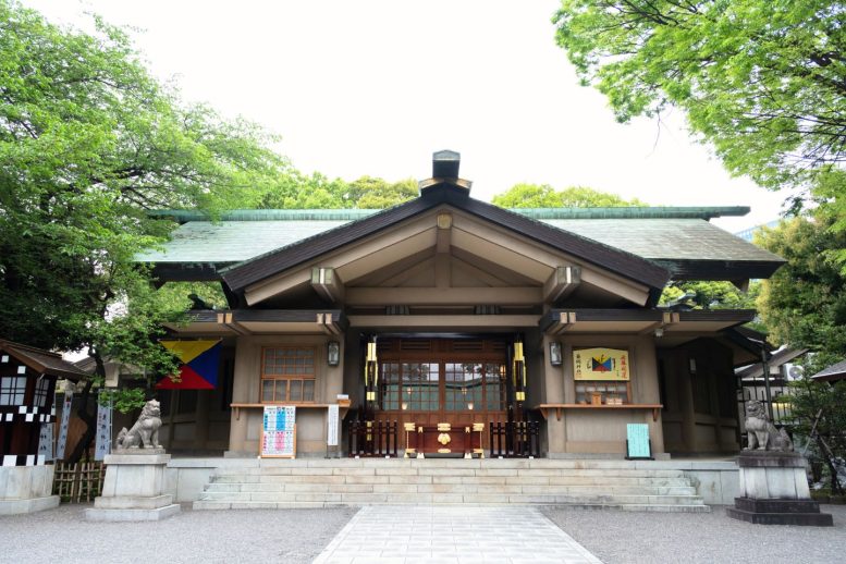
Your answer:
[[[621,208],[646,204],[637,198],[625,200],[616,194],[599,192],[584,186],[571,186],[556,191],[549,184],[515,184],[507,192],[493,196],[494,206],[501,208]]]

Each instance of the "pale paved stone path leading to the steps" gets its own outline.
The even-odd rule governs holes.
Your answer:
[[[539,510],[369,505],[314,564],[599,563]]]

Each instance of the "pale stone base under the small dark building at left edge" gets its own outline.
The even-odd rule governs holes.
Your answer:
[[[0,467],[0,515],[16,515],[59,506],[53,495],[52,465]]]

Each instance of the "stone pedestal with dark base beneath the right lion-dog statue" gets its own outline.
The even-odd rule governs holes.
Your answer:
[[[760,525],[833,525],[832,516],[820,513],[820,504],[811,500],[800,454],[745,451],[737,464],[740,495],[726,510],[729,517]]]

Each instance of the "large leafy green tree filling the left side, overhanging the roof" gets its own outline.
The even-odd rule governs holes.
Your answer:
[[[290,164],[256,125],[183,105],[122,30],[95,27],[0,0],[0,334],[85,348],[100,378],[107,356],[172,373],[156,338],[174,312],[133,262],[172,224],[146,210],[249,201]]]

